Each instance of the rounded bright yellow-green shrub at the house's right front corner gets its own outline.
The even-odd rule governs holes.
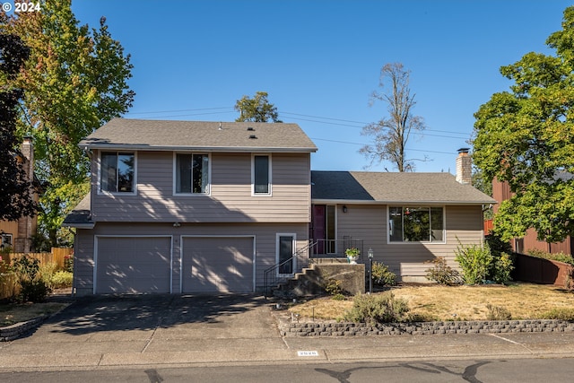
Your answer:
[[[468,284],[484,283],[489,275],[492,264],[491,249],[488,244],[463,246],[460,244],[456,251],[455,260],[463,270],[463,279]]]

